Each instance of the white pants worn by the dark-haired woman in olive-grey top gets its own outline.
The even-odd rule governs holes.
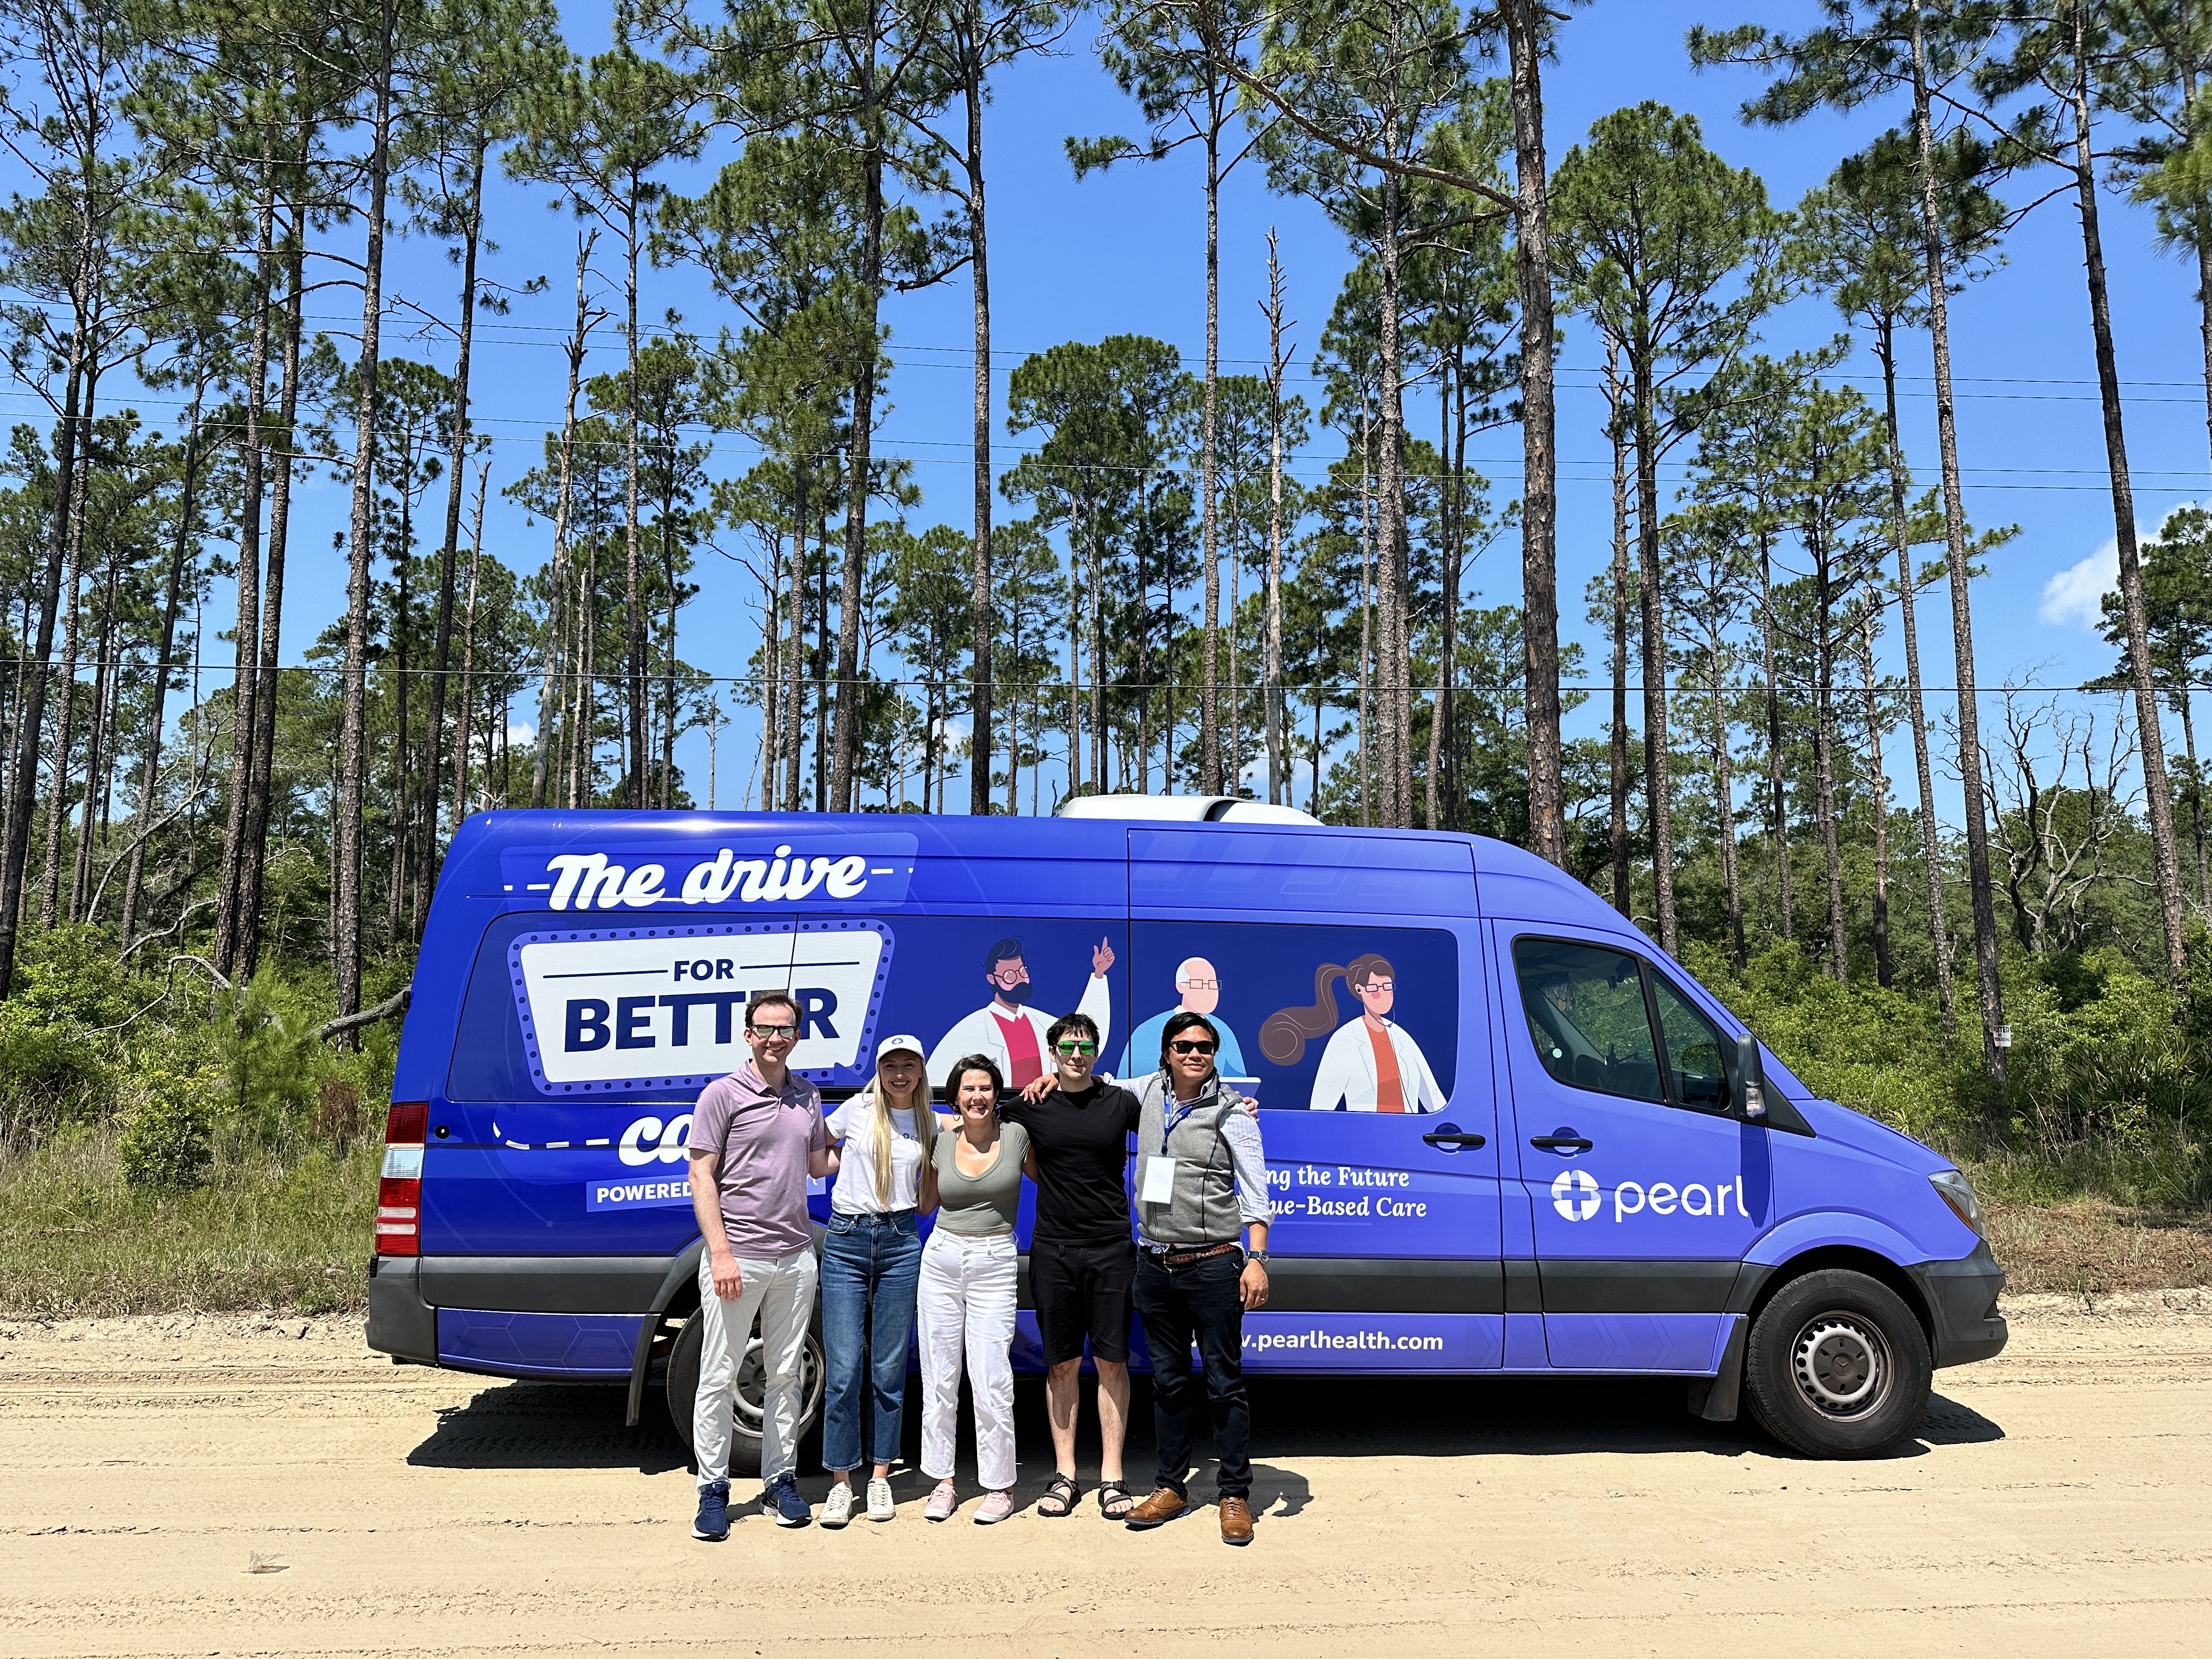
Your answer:
[[[922,1349],[922,1473],[951,1480],[960,1433],[960,1356],[975,1394],[975,1478],[1013,1484],[1013,1234],[936,1228],[922,1248],[916,1329]]]

